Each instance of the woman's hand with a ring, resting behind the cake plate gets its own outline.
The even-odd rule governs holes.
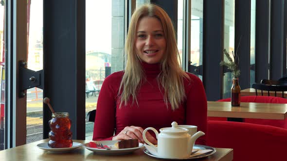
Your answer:
[[[152,144],[157,145],[158,141],[149,133],[145,133],[146,139]],[[112,140],[127,140],[127,139],[138,139],[140,143],[144,143],[143,140],[143,128],[130,126],[123,129],[117,136],[114,136]]]

